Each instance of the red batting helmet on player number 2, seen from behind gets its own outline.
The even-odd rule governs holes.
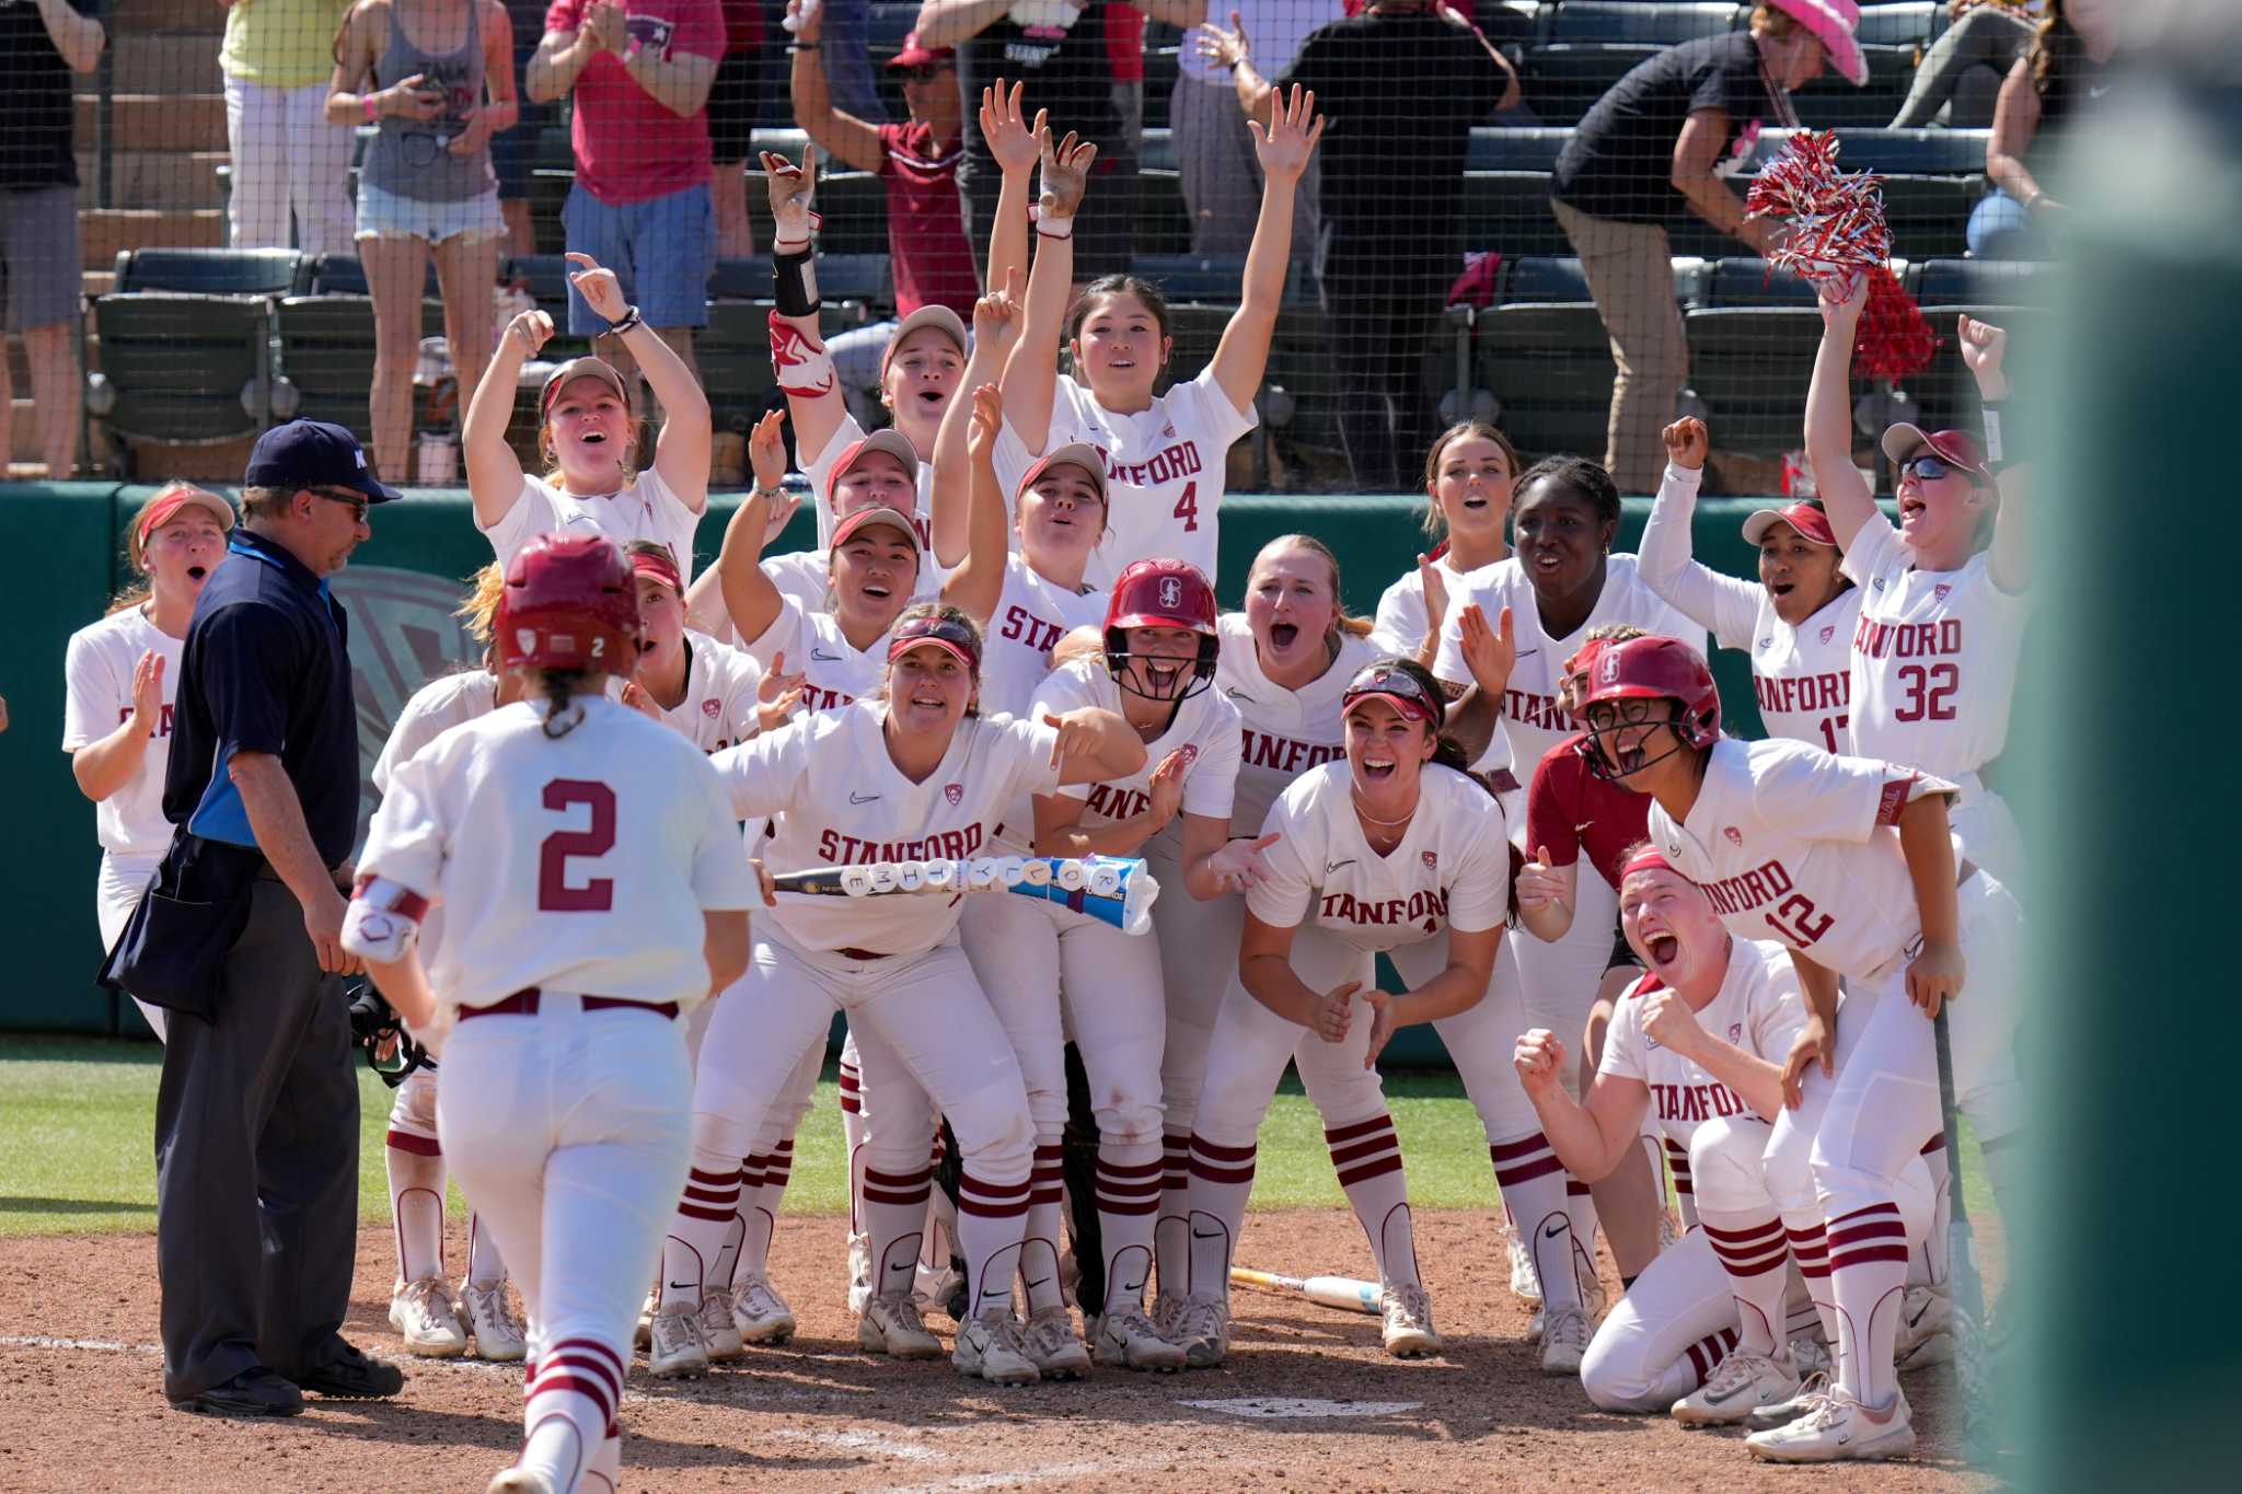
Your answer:
[[[601,670],[639,661],[639,589],[605,535],[538,535],[507,567],[491,623],[500,670]]]

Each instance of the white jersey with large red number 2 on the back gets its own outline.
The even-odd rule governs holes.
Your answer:
[[[691,1003],[708,992],[702,912],[760,905],[702,750],[617,701],[576,706],[563,737],[525,701],[390,768],[359,874],[442,900],[428,977],[446,1008],[531,986]]]

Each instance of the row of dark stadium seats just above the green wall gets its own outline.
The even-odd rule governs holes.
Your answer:
[[[1675,300],[1690,340],[1690,390],[1724,450],[1782,452],[1798,443],[1821,314],[1814,291],[1751,258],[1675,258]],[[1238,262],[1143,260],[1143,273],[1173,298],[1175,376],[1188,379],[1213,356],[1235,309]],[[1957,311],[1989,316],[2029,345],[2033,291],[2027,262],[1894,262],[1933,329],[1946,334]],[[554,316],[560,336],[547,358],[583,345],[565,334],[567,282],[558,255],[527,255],[504,273]],[[830,255],[821,262],[827,334],[861,325],[892,298],[886,255]],[[374,311],[354,258],[309,260],[285,249],[143,249],[119,255],[117,291],[94,300],[101,370],[90,376],[90,414],[112,437],[197,443],[256,435],[276,419],[314,417],[368,439]],[[702,379],[720,430],[744,430],[776,401],[767,316],[769,260],[720,260],[708,284],[711,323],[695,338]],[[424,334],[444,327],[430,271]],[[1448,309],[1444,336],[1426,358],[1433,387],[1489,390],[1511,439],[1529,452],[1601,450],[1612,356],[1574,258],[1507,258],[1486,307]],[[1276,394],[1276,392],[1282,394]],[[1287,296],[1278,318],[1262,410],[1287,439],[1327,446],[1332,405],[1323,314],[1305,293]],[[1939,358],[1908,394],[1924,419],[1960,423],[1968,381],[1955,358]],[[1690,396],[1686,396],[1690,399]],[[516,441],[534,446],[534,392],[516,405]]]

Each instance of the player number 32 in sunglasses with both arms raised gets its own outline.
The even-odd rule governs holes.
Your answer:
[[[1852,746],[1863,757],[1935,773],[1962,791],[1955,835],[1995,878],[2022,876],[2016,820],[1984,786],[2009,741],[2009,699],[2025,634],[2031,513],[2025,482],[2000,461],[2007,334],[1962,318],[1962,361],[1986,403],[1986,450],[1964,430],[1892,426],[1883,455],[1899,470],[1899,526],[1852,466],[1852,338],[1865,293],[1821,302],[1823,345],[1807,394],[1807,457],[1861,587],[1852,647]],[[1991,513],[1991,542],[1980,538]]]

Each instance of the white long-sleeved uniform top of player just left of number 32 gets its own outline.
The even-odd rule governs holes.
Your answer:
[[[1827,753],[1850,753],[1852,634],[1861,587],[1847,587],[1821,611],[1791,627],[1755,580],[1722,576],[1690,560],[1690,522],[1704,473],[1666,466],[1643,529],[1641,578],[1686,618],[1713,632],[1720,647],[1751,654],[1751,690],[1769,737],[1789,737]],[[1877,757],[1877,753],[1868,753]]]

